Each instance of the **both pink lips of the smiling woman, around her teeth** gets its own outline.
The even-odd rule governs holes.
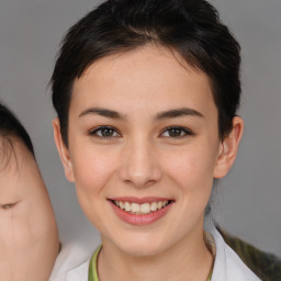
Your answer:
[[[166,199],[166,198],[137,199],[137,198],[127,198],[126,196],[126,198],[114,198],[114,199],[109,200],[113,211],[122,221],[124,221],[128,224],[138,225],[138,226],[148,225],[148,224],[151,224],[151,223],[158,221],[159,218],[165,216],[165,214],[170,210],[170,207],[172,205],[172,203],[170,203],[170,204],[166,205],[165,207],[159,209],[149,214],[140,214],[140,215],[138,214],[137,215],[137,214],[132,214],[132,213],[128,213],[128,212],[120,209],[112,201],[122,201],[122,202],[128,202],[128,203],[143,204],[143,203],[153,203],[153,202],[159,202],[159,201],[170,201],[170,199]]]

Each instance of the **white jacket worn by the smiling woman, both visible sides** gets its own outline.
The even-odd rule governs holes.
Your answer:
[[[216,255],[211,281],[259,281],[240,260],[236,252],[224,241],[221,234],[213,229]],[[72,258],[71,258],[72,256]],[[75,257],[75,258],[74,258]],[[49,281],[87,281],[90,257],[69,247],[59,254]]]

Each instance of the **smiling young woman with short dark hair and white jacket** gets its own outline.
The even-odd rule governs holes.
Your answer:
[[[239,64],[202,0],[105,1],[69,30],[55,142],[102,246],[66,280],[258,280],[203,228],[243,134]]]

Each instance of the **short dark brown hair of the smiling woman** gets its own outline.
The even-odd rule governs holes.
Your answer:
[[[220,136],[229,133],[240,99],[240,48],[215,8],[204,0],[109,0],[68,31],[52,76],[66,145],[74,80],[99,58],[149,43],[176,50],[209,76]]]

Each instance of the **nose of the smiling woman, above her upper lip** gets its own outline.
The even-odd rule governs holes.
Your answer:
[[[136,188],[145,188],[158,182],[162,177],[156,148],[149,140],[135,139],[123,148],[122,181]]]

